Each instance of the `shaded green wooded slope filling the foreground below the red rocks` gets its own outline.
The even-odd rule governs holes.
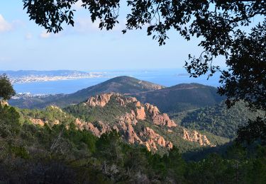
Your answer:
[[[252,155],[241,146],[226,147],[224,156],[206,156],[219,147],[200,149],[200,159],[184,161],[175,147],[162,156],[127,144],[116,132],[96,137],[79,130],[75,119],[56,107],[21,110],[0,105],[0,183],[233,183],[235,176],[239,183],[264,183],[266,179],[264,146],[256,146]],[[149,122],[137,125],[145,124]],[[160,134],[165,131],[154,128]],[[177,144],[186,143],[175,136]]]

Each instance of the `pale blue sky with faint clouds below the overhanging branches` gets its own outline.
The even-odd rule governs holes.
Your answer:
[[[74,28],[65,25],[54,35],[29,21],[21,0],[1,0],[1,70],[181,68],[189,53],[201,51],[199,40],[187,42],[174,32],[162,47],[147,36],[146,30],[123,35],[125,13],[121,11],[121,24],[114,30],[101,31],[92,24],[89,13],[77,6]]]

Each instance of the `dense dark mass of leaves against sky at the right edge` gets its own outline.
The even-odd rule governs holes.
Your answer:
[[[238,31],[234,36],[230,57],[226,59],[230,67],[222,73],[218,93],[227,97],[228,107],[244,100],[251,109],[266,112],[266,20],[252,28],[251,33]]]

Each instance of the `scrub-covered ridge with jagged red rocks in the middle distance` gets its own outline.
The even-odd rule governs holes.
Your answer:
[[[135,97],[119,93],[92,96],[64,110],[77,117],[75,123],[80,130],[90,130],[97,137],[116,130],[129,144],[144,145],[149,151],[166,151],[173,146],[184,151],[226,142],[222,138],[212,142],[196,130],[177,125],[166,113],[160,113],[155,105],[143,104]]]

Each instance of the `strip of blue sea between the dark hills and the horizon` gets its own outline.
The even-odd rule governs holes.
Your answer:
[[[91,71],[92,72],[92,71]],[[60,81],[41,81],[23,84],[13,84],[16,93],[37,94],[59,94],[74,93],[82,88],[94,86],[116,76],[132,76],[140,80],[150,81],[162,86],[174,86],[177,84],[199,83],[208,86],[219,86],[219,74],[211,78],[200,76],[199,78],[189,77],[184,69],[144,69],[144,70],[123,70],[123,71],[95,71],[101,72],[101,77],[88,79],[73,79]]]

